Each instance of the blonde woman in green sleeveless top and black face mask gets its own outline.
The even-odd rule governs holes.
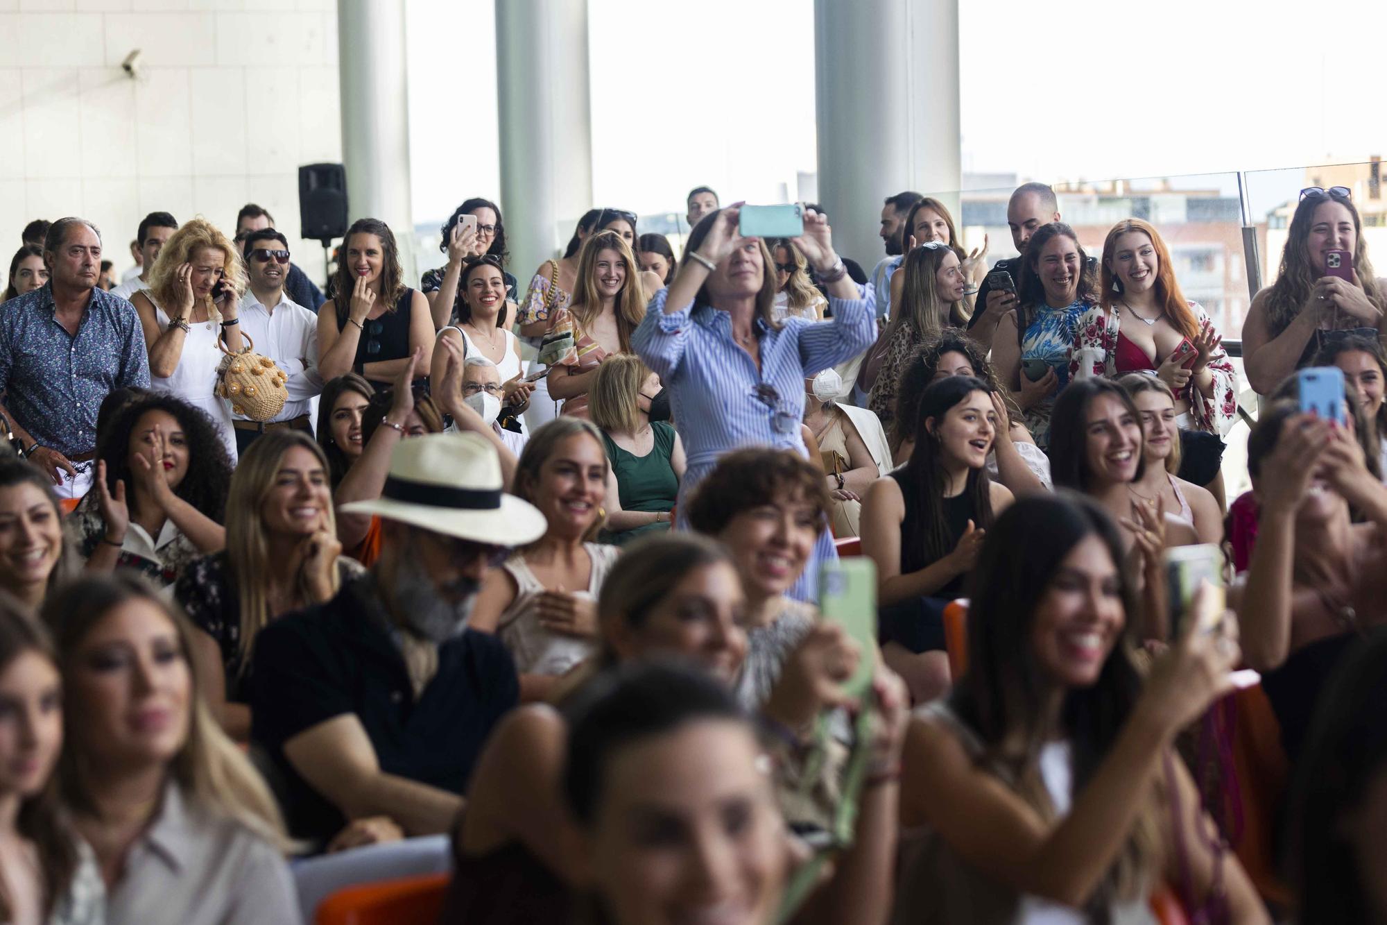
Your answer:
[[[651,421],[651,400],[659,390],[655,374],[628,353],[610,357],[592,379],[588,414],[602,431],[612,464],[605,543],[626,546],[670,529],[685,462],[674,426]]]

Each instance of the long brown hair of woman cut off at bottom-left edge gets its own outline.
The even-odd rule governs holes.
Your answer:
[[[0,674],[19,656],[36,653],[58,671],[58,658],[53,651],[49,633],[32,617],[24,612],[24,604],[0,592]],[[62,896],[78,867],[76,842],[58,803],[57,775],[51,775],[43,789],[19,803],[15,819],[18,833],[33,842],[39,856],[39,876],[43,889],[43,917],[53,914],[53,907]],[[0,921],[12,921],[4,890],[0,890]]]

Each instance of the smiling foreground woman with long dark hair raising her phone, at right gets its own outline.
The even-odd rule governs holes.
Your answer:
[[[988,532],[968,671],[906,738],[902,824],[928,835],[900,921],[1150,921],[1161,882],[1191,917],[1269,921],[1172,749],[1230,690],[1237,621],[1191,614],[1143,683],[1121,562],[1082,499],[1021,499]]]

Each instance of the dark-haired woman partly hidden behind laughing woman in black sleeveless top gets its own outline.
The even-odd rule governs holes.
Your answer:
[[[978,343],[957,331],[943,331],[925,340],[906,364],[896,394],[896,414],[889,440],[896,465],[915,451],[920,400],[931,383],[947,376],[976,376],[988,383],[996,411],[996,436],[988,456],[988,474],[1017,496],[1050,490],[1050,457],[1036,446],[1031,431],[1008,407],[1007,393]]]

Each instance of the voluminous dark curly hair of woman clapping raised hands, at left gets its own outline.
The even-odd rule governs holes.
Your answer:
[[[232,458],[226,444],[201,408],[168,393],[153,393],[135,399],[111,418],[111,428],[101,442],[98,460],[105,462],[105,486],[115,494],[115,483],[135,485],[130,472],[130,440],[135,426],[150,411],[164,411],[178,421],[187,442],[187,474],[173,494],[191,504],[200,514],[218,524],[226,517],[226,493],[232,485]]]

